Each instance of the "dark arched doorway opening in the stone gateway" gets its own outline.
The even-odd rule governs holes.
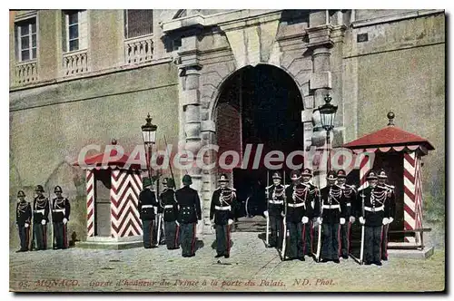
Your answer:
[[[260,216],[266,209],[267,170],[262,164],[265,154],[271,150],[281,150],[284,155],[303,150],[301,92],[291,76],[278,67],[267,64],[247,66],[222,84],[214,110],[218,156],[226,150],[235,150],[242,158],[246,145],[252,144],[246,169],[244,166],[241,168],[240,162],[232,170],[218,169],[218,173],[228,173],[232,178],[233,187],[242,201],[242,209],[237,214],[240,217],[246,213]],[[262,160],[258,169],[253,169],[256,150],[261,143]],[[302,158],[300,160],[302,162]],[[249,206],[252,208],[249,211],[253,212],[246,212],[244,208],[248,198],[255,204]]]

